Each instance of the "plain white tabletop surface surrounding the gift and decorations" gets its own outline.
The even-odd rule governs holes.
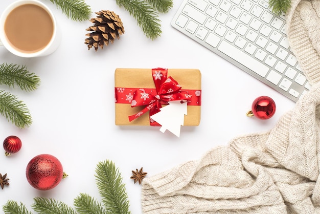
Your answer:
[[[2,0],[0,13],[11,2]],[[84,44],[85,29],[92,23],[68,19],[49,0],[42,2],[53,10],[62,30],[57,51],[28,59],[0,47],[0,63],[26,65],[41,79],[40,87],[33,92],[0,85],[0,89],[24,101],[33,118],[32,125],[21,130],[0,116],[0,141],[10,135],[22,140],[18,153],[0,155],[0,173],[7,173],[10,179],[10,186],[0,189],[0,213],[8,200],[22,202],[30,211],[34,197],[53,198],[73,207],[74,198],[82,192],[100,201],[95,168],[108,159],[122,174],[131,213],[140,214],[141,186],[130,179],[131,170],[143,167],[149,177],[197,160],[237,136],[269,131],[294,106],[293,101],[172,28],[170,22],[180,1],[174,1],[169,13],[159,16],[163,33],[151,40],[115,0],[87,0],[93,12],[115,11],[125,28],[120,40],[97,52]],[[195,127],[182,126],[180,138],[160,132],[159,127],[115,125],[115,69],[156,67],[201,71],[201,122]],[[275,116],[269,120],[246,117],[253,100],[261,95],[275,100]],[[54,189],[36,190],[26,179],[28,162],[39,154],[57,157],[69,175]]]

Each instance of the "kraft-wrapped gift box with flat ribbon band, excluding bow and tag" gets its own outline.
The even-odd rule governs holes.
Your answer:
[[[197,69],[161,69],[167,70],[167,76],[158,78],[174,79],[181,87],[181,91],[191,95],[187,104],[187,115],[184,125],[197,126],[201,117],[201,73]],[[115,102],[116,125],[156,125],[151,120],[149,112],[129,121],[129,116],[136,115],[146,108],[148,103],[131,107],[132,95],[142,91],[156,93],[155,81],[152,72],[157,69],[129,69],[117,68],[115,71]],[[159,73],[158,71],[158,73]],[[162,105],[165,106],[165,105]],[[158,124],[159,125],[159,124]]]

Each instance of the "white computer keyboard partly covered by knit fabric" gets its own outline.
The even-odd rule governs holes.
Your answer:
[[[290,51],[285,14],[264,0],[184,0],[171,25],[293,101],[310,89]]]

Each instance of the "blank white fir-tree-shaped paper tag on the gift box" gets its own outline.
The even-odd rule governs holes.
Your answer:
[[[164,133],[170,131],[177,137],[180,137],[181,125],[184,125],[185,115],[187,115],[187,102],[184,100],[169,101],[169,105],[160,109],[160,112],[150,116],[161,126],[160,131]]]

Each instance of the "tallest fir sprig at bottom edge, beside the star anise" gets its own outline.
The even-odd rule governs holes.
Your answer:
[[[102,203],[113,214],[130,213],[129,201],[121,173],[112,161],[99,162],[96,178]]]

